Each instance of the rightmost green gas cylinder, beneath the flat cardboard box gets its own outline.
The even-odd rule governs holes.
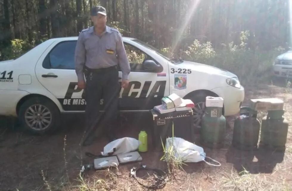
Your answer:
[[[289,123],[283,114],[284,110],[268,111],[268,115],[262,119],[260,146],[285,150]]]

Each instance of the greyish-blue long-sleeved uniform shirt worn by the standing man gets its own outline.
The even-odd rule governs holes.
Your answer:
[[[131,69],[122,35],[118,30],[106,26],[105,32],[98,36],[92,26],[80,32],[75,49],[75,71],[78,81],[84,81],[84,65],[98,69],[118,64],[122,71],[122,79],[127,80]]]

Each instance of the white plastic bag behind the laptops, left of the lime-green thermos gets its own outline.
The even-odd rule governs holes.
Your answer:
[[[101,154],[103,156],[107,155],[117,155],[121,153],[129,153],[138,149],[140,141],[131,137],[124,137],[114,140],[103,148]]]

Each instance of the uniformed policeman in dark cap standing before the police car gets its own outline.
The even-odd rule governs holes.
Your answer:
[[[75,50],[78,88],[86,91],[86,133],[83,146],[92,144],[97,126],[106,125],[109,141],[114,140],[113,128],[116,126],[121,88],[117,65],[122,71],[123,88],[128,87],[130,73],[122,36],[118,30],[106,26],[105,8],[93,7],[91,20],[94,26],[81,31]],[[101,98],[105,105],[104,114],[100,113]]]

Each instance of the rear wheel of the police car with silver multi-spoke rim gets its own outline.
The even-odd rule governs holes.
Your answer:
[[[19,108],[22,126],[31,133],[53,132],[60,124],[60,111],[52,101],[34,97],[25,101]]]

